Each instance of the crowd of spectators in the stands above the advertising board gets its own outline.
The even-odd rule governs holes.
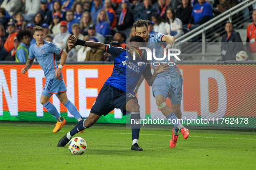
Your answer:
[[[143,19],[148,21],[149,34],[178,38],[238,3],[240,0],[0,0],[0,60],[26,62],[29,47],[35,43],[33,27],[39,25],[45,29],[46,41],[68,53],[67,61],[111,61],[101,50],[68,47],[68,36],[125,48],[135,35],[133,23]],[[243,11],[243,17],[251,17],[249,10]],[[255,25],[251,27],[256,30]]]

